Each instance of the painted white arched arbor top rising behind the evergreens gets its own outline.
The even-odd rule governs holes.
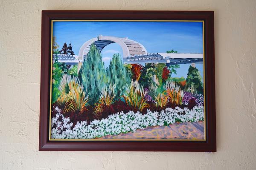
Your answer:
[[[78,59],[81,62],[83,62],[84,56],[87,55],[88,51],[90,50],[90,46],[92,44],[96,45],[96,47],[101,52],[105,46],[114,42],[116,42],[121,46],[123,57],[125,58],[130,56],[135,56],[135,55],[147,54],[147,50],[145,49],[145,47],[139,42],[136,42],[134,40],[129,40],[128,38],[99,35],[96,38],[92,38],[87,42],[84,42],[84,44],[81,46],[79,50]]]

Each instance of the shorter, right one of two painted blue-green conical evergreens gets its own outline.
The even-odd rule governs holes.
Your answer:
[[[118,99],[124,94],[125,86],[131,83],[130,77],[127,76],[127,69],[122,64],[119,54],[114,54],[110,61],[110,65],[106,70],[108,76],[108,85],[115,85],[114,94]]]

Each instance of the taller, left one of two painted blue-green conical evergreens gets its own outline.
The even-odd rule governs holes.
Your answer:
[[[90,105],[99,101],[100,91],[107,82],[105,76],[104,62],[102,56],[95,45],[92,45],[81,70],[79,71],[79,79],[83,85],[85,93],[90,98]]]

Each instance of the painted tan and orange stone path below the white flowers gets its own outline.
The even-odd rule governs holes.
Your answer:
[[[103,136],[102,139],[204,139],[204,122],[151,126],[134,133]]]

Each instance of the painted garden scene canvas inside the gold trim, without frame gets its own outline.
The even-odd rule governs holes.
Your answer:
[[[203,21],[53,21],[50,138],[204,140]]]

